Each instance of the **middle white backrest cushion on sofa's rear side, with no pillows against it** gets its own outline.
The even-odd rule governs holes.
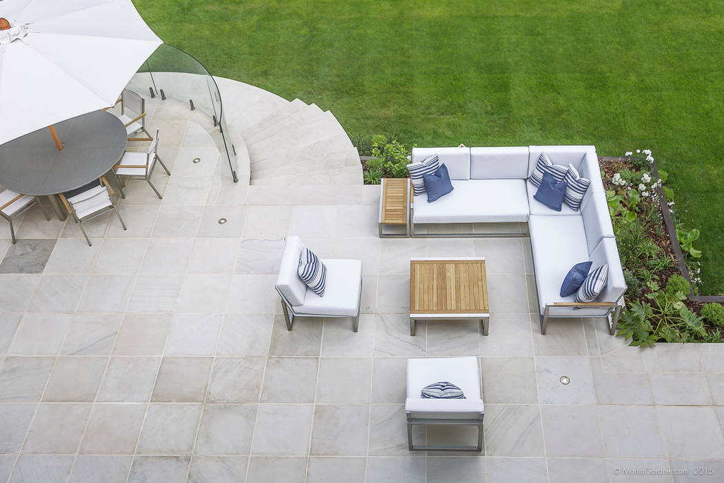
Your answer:
[[[470,148],[473,180],[525,180],[528,177],[528,146]]]

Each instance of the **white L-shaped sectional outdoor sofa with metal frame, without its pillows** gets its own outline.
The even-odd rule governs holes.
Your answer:
[[[554,164],[573,164],[590,180],[580,211],[565,203],[561,211],[554,211],[533,198],[537,188],[528,178],[542,153]],[[447,167],[454,189],[432,203],[426,194],[414,196],[412,235],[420,236],[415,235],[415,224],[527,222],[541,333],[549,317],[602,317],[613,335],[626,282],[595,146],[413,148],[411,160],[423,161],[432,154]],[[592,261],[592,269],[609,267],[607,285],[591,303],[577,303],[575,295],[560,296],[565,274],[582,261]]]

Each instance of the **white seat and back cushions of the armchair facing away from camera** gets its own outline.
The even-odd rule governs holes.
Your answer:
[[[460,387],[466,399],[423,399],[420,392],[432,382],[448,381]],[[482,413],[480,370],[475,357],[408,359],[406,412]]]

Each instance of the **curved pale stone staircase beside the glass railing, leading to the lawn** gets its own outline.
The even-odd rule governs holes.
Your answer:
[[[222,88],[230,129],[248,151],[251,185],[362,184],[357,149],[331,112],[252,87],[230,103]]]

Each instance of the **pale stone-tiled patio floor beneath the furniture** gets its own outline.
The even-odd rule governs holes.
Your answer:
[[[89,248],[35,210],[11,245],[0,224],[0,481],[724,480],[724,346],[630,348],[592,319],[542,336],[527,238],[379,240],[379,187],[235,185],[203,118],[151,104],[172,175],[153,177],[162,201],[129,182],[126,232],[98,219]],[[287,234],[363,260],[358,333],[287,332]],[[411,337],[410,257],[473,255],[490,335],[434,322]],[[481,455],[408,452],[405,360],[439,356],[479,356]]]

